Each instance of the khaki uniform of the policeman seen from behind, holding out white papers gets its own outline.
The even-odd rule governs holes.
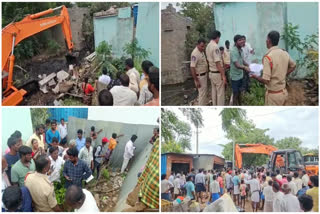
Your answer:
[[[289,54],[278,46],[268,50],[263,57],[262,78],[270,81],[266,84],[265,105],[285,105],[288,98],[286,76],[288,69],[295,65]]]

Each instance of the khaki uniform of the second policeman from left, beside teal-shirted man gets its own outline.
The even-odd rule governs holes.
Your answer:
[[[224,84],[218,71],[216,62],[222,62],[219,46],[215,41],[210,41],[206,48],[209,62],[209,79],[211,81],[212,105],[224,105]]]

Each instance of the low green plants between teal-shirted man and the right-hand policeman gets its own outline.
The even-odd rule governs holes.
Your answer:
[[[255,79],[250,79],[250,93],[244,93],[242,103],[247,106],[264,105],[265,87]]]

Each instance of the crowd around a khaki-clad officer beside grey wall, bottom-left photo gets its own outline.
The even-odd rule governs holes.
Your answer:
[[[65,178],[65,203],[77,212],[99,212],[90,191],[83,181],[90,182],[95,175],[98,180],[100,167],[108,163],[117,140],[123,134],[113,133],[101,142],[91,127],[90,135],[84,137],[83,130],[67,143],[67,124],[62,118],[57,126],[56,120],[47,120],[46,125],[36,126],[34,134],[23,142],[20,131],[15,131],[7,140],[8,149],[2,156],[2,211],[15,212],[58,212],[63,207],[55,197],[54,183]],[[152,139],[157,139],[159,129]],[[127,169],[134,156],[134,142],[138,137],[132,135],[125,145],[121,172]],[[150,140],[153,143],[155,140]]]

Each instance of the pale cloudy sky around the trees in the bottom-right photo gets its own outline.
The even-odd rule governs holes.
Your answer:
[[[176,108],[168,108],[174,111],[179,119],[189,123],[187,118]],[[199,134],[199,153],[216,154],[222,156],[223,148],[218,144],[229,142],[225,138],[225,132],[221,128],[222,108],[203,108],[204,128]],[[272,108],[272,107],[247,107],[247,118],[252,120],[257,128],[269,129],[266,132],[275,141],[285,137],[298,137],[302,140],[302,146],[318,148],[318,110],[316,108]],[[196,153],[195,127],[192,126],[192,151]]]

